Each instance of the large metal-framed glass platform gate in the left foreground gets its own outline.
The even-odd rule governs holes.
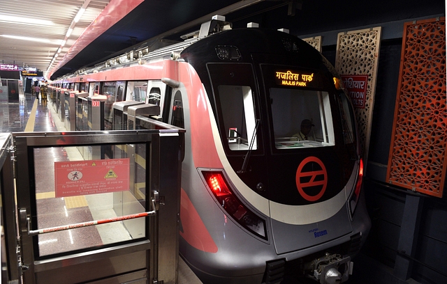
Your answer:
[[[1,134],[3,281],[177,283],[183,139],[177,127]],[[108,155],[86,160],[80,145]]]

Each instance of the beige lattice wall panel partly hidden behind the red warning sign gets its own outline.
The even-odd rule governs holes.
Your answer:
[[[372,109],[376,90],[381,27],[339,33],[335,70],[341,75],[368,75],[365,108],[355,109],[363,159],[367,160]],[[365,163],[366,164],[366,163]]]

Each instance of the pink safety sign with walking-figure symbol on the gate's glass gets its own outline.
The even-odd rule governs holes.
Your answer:
[[[129,190],[130,160],[98,159],[54,162],[56,197]]]

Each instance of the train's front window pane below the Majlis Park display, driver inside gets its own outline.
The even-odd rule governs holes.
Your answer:
[[[277,149],[335,144],[327,92],[270,88],[270,106]]]

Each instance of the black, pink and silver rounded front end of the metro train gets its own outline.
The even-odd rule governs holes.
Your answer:
[[[263,29],[216,33],[180,56],[205,90],[184,106],[188,265],[204,283],[346,281],[370,221],[353,109],[325,58]]]

